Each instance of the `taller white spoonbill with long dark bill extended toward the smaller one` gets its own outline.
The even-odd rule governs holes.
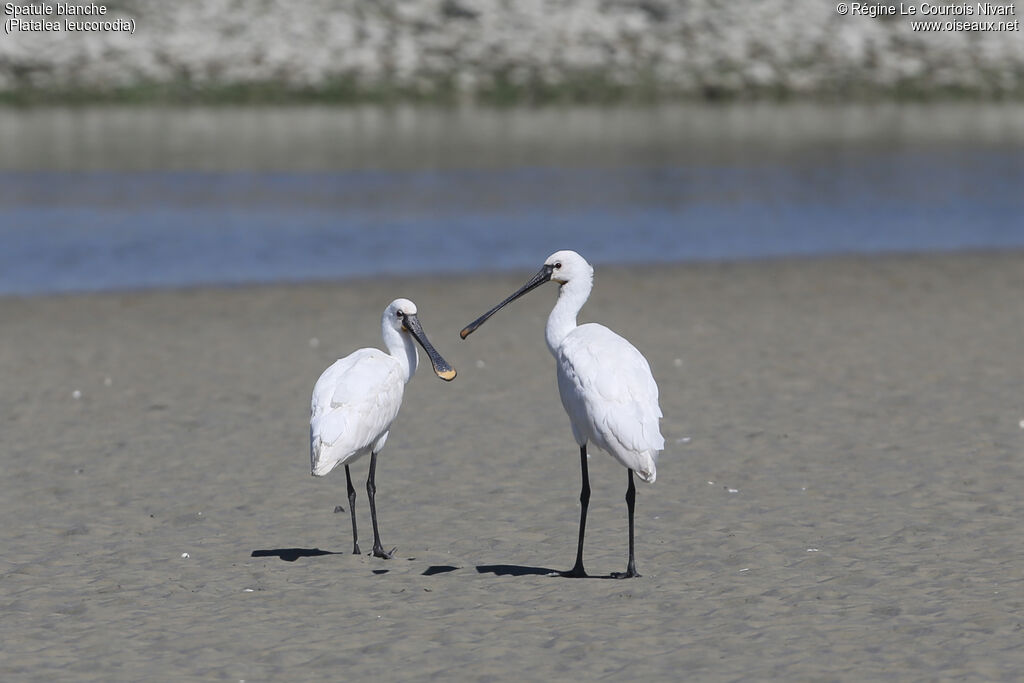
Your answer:
[[[611,454],[629,471],[626,505],[630,521],[630,558],[625,572],[616,579],[639,577],[633,555],[633,508],[636,487],[633,473],[654,482],[657,454],[665,449],[658,427],[662,409],[657,404],[657,384],[647,359],[614,332],[595,323],[577,326],[577,315],[594,286],[594,268],[574,251],[559,251],[548,257],[534,278],[515,294],[470,323],[463,339],[483,325],[503,306],[544,283],[558,283],[558,301],[548,317],[545,338],[555,356],[558,393],[580,444],[583,488],[580,492],[580,543],[575,565],[563,575],[586,577],[583,568],[583,539],[590,503],[590,475],[587,472],[587,444]]]

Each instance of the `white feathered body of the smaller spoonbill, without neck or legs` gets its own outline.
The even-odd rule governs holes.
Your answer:
[[[312,473],[324,476],[368,453],[398,415],[404,387],[398,362],[376,348],[353,351],[324,371],[310,407]]]

